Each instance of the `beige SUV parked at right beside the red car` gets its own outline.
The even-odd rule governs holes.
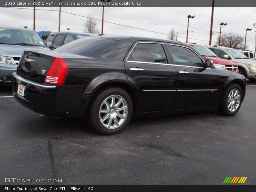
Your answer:
[[[229,47],[206,46],[217,56],[235,62],[238,65],[239,73],[246,78],[256,81],[256,61],[246,57],[240,51]]]

